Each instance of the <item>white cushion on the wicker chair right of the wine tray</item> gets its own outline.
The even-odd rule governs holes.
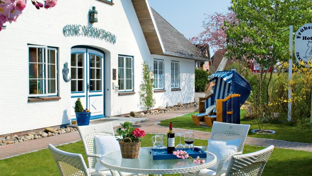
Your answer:
[[[217,170],[221,158],[228,153],[237,152],[240,143],[240,138],[230,141],[216,141],[208,139],[207,151],[217,156],[217,163],[211,166],[209,169]]]

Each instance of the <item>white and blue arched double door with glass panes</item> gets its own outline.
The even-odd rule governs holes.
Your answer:
[[[97,49],[71,49],[71,119],[75,119],[75,102],[80,98],[91,119],[105,115],[104,53]]]

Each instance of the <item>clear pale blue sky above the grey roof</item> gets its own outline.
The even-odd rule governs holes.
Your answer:
[[[204,13],[227,12],[230,4],[230,0],[149,0],[149,5],[187,39],[204,30]]]

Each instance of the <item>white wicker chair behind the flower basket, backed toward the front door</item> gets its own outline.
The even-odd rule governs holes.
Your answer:
[[[97,125],[78,126],[83,146],[85,147],[85,154],[87,156],[88,165],[94,168],[97,162],[96,158],[102,155],[96,153],[94,136],[114,136],[114,129],[112,123],[101,123]],[[110,170],[112,173],[115,171]],[[138,174],[118,172],[121,176],[133,176]],[[142,175],[142,174],[139,174]]]

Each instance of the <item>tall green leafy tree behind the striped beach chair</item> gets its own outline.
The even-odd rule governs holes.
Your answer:
[[[227,57],[238,60],[246,56],[260,64],[259,92],[266,79],[263,70],[289,58],[289,25],[294,31],[312,19],[312,1],[307,0],[231,0],[231,10],[238,23],[225,21]],[[248,41],[248,42],[246,42]],[[266,104],[269,102],[269,85],[266,85]],[[259,100],[260,102],[261,100]]]

